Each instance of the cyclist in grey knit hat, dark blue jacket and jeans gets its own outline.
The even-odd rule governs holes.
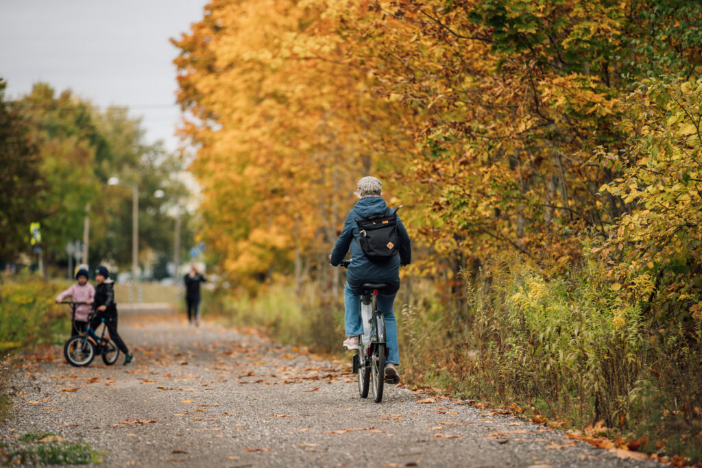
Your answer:
[[[388,290],[378,295],[378,310],[383,312],[385,317],[385,333],[387,334],[388,363],[385,364],[385,380],[387,382],[399,382],[399,349],[397,348],[397,321],[392,313],[392,303],[395,302],[395,295],[399,289],[399,267],[409,265],[412,260],[412,249],[407,235],[407,231],[402,225],[402,221],[397,218],[397,232],[399,234],[399,255],[394,255],[385,262],[371,262],[359,243],[360,232],[356,220],[369,218],[373,215],[382,215],[388,209],[385,200],[381,196],[382,184],[374,177],[364,177],[358,181],[358,190],[355,195],[359,198],[355,206],[351,208],[344,222],[343,231],[336,241],[336,246],[331,253],[329,262],[333,266],[338,266],[351,249],[352,262],[346,274],[346,284],[344,287],[344,323],[346,340],[343,346],[346,349],[359,349],[358,336],[363,334],[363,323],[361,320],[361,286],[364,283],[387,283]],[[390,215],[394,210],[390,209]]]

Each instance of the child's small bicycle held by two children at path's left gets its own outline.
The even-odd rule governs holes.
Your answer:
[[[73,320],[75,320],[76,307],[78,305],[87,304],[87,302],[62,302],[62,304],[71,305],[73,309]],[[119,358],[119,348],[114,344],[114,341],[110,339],[110,335],[105,335],[107,332],[105,319],[103,318],[100,321],[100,323],[102,323],[102,333],[98,336],[90,326],[93,316],[95,316],[94,310],[88,315],[86,331],[80,335],[70,337],[63,345],[63,356],[71,366],[88,366],[88,364],[93,362],[97,354],[102,356],[102,362],[107,364],[107,366],[112,366]]]

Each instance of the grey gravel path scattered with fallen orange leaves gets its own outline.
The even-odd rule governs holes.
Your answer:
[[[349,363],[253,330],[163,314],[120,316],[119,329],[129,366],[74,368],[60,347],[15,360],[0,436],[84,440],[110,467],[664,466],[461,401],[418,403],[426,396],[399,387],[381,404],[362,400]]]

